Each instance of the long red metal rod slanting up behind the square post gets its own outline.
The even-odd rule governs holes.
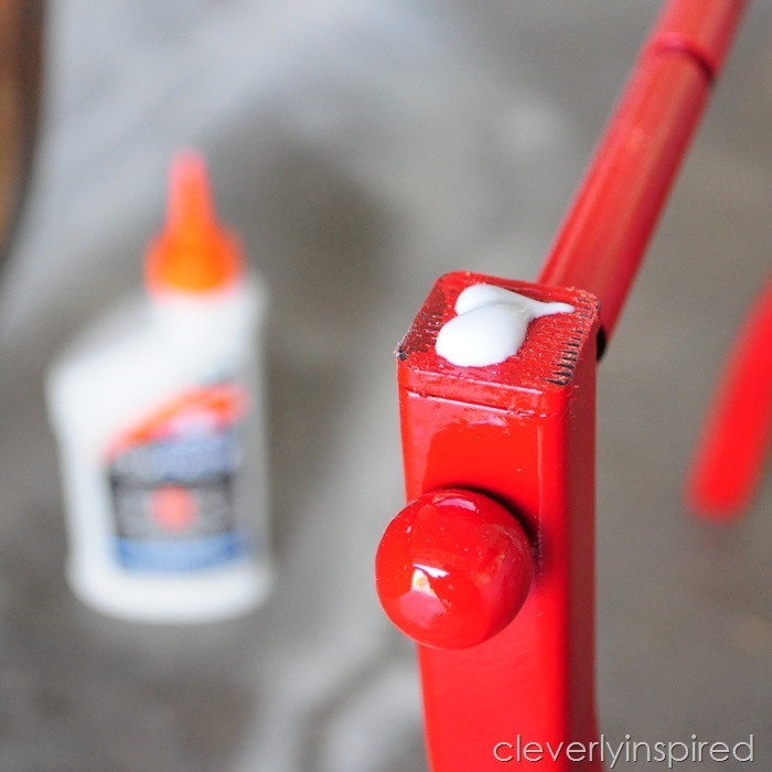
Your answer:
[[[744,0],[668,3],[537,281],[601,301],[611,337]]]

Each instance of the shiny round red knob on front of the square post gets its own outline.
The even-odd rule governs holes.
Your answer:
[[[514,515],[482,493],[426,493],[387,526],[375,557],[386,615],[438,648],[468,648],[503,630],[528,594],[530,546]]]

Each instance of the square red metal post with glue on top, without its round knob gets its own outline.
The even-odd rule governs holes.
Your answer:
[[[577,311],[533,322],[518,355],[500,365],[458,367],[433,343],[458,294],[478,282]],[[437,772],[500,769],[494,748],[516,749],[518,737],[551,748],[596,739],[597,331],[597,302],[587,292],[452,274],[435,286],[399,349],[408,500],[427,491],[483,492],[523,525],[535,566],[528,598],[503,632],[464,651],[418,647]],[[576,769],[565,754],[544,766]]]

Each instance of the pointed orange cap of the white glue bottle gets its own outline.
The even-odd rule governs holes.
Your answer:
[[[148,245],[144,279],[154,292],[211,292],[243,272],[238,238],[217,221],[202,157],[180,153],[172,164],[167,222]]]

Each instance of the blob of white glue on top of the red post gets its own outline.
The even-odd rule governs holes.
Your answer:
[[[528,324],[553,313],[572,313],[568,303],[544,303],[494,285],[472,285],[455,301],[455,313],[437,335],[435,350],[451,364],[485,367],[514,356]]]

